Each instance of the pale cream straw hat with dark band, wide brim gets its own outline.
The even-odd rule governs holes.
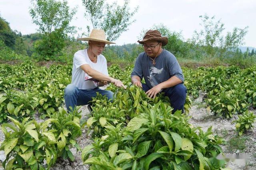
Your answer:
[[[106,43],[106,44],[115,44],[113,42],[106,40],[105,32],[102,29],[92,29],[92,32],[90,33],[89,37],[78,38],[77,40],[80,40],[80,41],[91,40],[91,41],[98,41],[98,42],[102,42],[102,43]]]

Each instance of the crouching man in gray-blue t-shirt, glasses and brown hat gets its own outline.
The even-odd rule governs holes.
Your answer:
[[[145,52],[136,59],[131,74],[132,83],[141,87],[150,98],[164,92],[170,98],[173,113],[183,111],[186,100],[184,76],[174,55],[162,49],[168,43],[167,37],[162,37],[157,30],[149,30],[138,42],[143,45]],[[141,83],[142,78],[146,84]]]

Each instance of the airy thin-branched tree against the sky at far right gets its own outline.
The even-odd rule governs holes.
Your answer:
[[[233,32],[228,32],[226,36],[224,36],[223,31],[225,28],[221,20],[215,22],[215,17],[209,18],[207,14],[199,17],[202,19],[200,25],[202,25],[204,29],[199,32],[194,31],[192,41],[202,46],[207,54],[216,55],[217,52],[220,52],[221,55],[243,44],[244,37],[248,32],[248,27],[244,29],[234,27]]]

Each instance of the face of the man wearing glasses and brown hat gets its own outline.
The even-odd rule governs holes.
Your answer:
[[[161,48],[161,43],[158,41],[145,41],[143,48],[149,57],[156,57],[158,50]]]

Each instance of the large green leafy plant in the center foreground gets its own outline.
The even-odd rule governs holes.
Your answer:
[[[225,162],[214,158],[220,152],[222,139],[200,128],[190,128],[188,118],[164,104],[144,109],[130,120],[125,129],[106,125],[106,135],[96,144],[83,149],[82,159],[91,169],[203,169],[224,167]],[[217,146],[217,147],[216,147]],[[89,156],[92,157],[89,158]]]

